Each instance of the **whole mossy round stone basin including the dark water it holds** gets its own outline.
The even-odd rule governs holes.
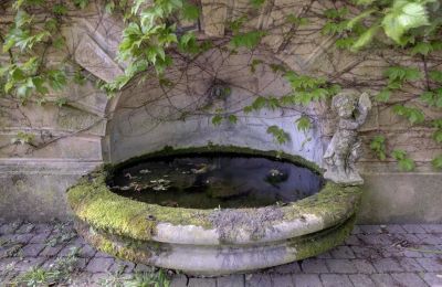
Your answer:
[[[286,153],[165,149],[83,177],[67,193],[78,233],[117,257],[194,275],[315,256],[349,235],[360,190]]]

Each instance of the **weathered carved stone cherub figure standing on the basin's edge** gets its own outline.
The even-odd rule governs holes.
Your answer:
[[[324,155],[327,169],[324,177],[337,183],[362,184],[355,164],[361,155],[358,128],[371,109],[370,98],[366,93],[357,98],[351,92],[343,92],[333,98],[332,108],[338,114],[339,123]]]

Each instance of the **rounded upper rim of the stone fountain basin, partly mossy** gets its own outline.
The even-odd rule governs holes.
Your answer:
[[[176,244],[219,245],[225,243],[219,231],[210,222],[213,210],[183,209],[160,206],[130,200],[112,192],[106,180],[112,170],[134,164],[158,156],[183,153],[235,152],[248,156],[264,156],[283,159],[297,166],[309,168],[322,174],[320,169],[298,156],[280,151],[262,151],[241,147],[208,146],[198,148],[166,148],[141,157],[129,159],[115,166],[104,166],[88,173],[67,192],[67,201],[77,220],[91,226],[120,236]],[[253,244],[260,242],[284,241],[307,235],[341,224],[348,220],[359,204],[360,190],[356,187],[344,187],[326,182],[319,192],[286,206],[274,206],[284,216],[272,222],[263,237],[253,238],[246,228],[238,230],[238,236],[229,244]],[[269,206],[265,206],[269,208]],[[234,211],[253,214],[265,208],[234,209]],[[228,210],[222,210],[228,212]]]

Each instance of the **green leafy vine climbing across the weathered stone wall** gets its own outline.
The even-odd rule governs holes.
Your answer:
[[[171,52],[182,57],[198,57],[210,49],[236,53],[240,49],[255,50],[271,33],[265,29],[246,29],[250,13],[236,17],[225,23],[224,39],[201,40],[193,31],[181,31],[180,23],[198,21],[201,3],[190,0],[106,0],[99,2],[106,13],[114,13],[125,22],[117,60],[126,66],[124,75],[112,83],[103,83],[76,65],[73,56],[66,53],[61,28],[69,24],[73,11],[86,9],[92,1],[44,1],[15,0],[0,4],[0,12],[11,15],[11,21],[0,25],[2,56],[7,61],[0,67],[0,95],[11,97],[21,105],[29,100],[41,105],[51,102],[52,92],[62,91],[74,81],[96,82],[109,96],[125,88],[129,83],[148,77],[157,77],[161,85],[173,85],[167,79],[167,68],[173,64]],[[312,4],[315,0],[312,0]],[[265,0],[251,0],[253,9],[262,9]],[[333,8],[319,17],[325,19],[320,32],[335,38],[335,45],[350,53],[370,49],[394,50],[409,56],[410,64],[391,65],[383,71],[385,86],[379,88],[373,100],[392,105],[392,110],[413,126],[433,128],[432,139],[442,145],[442,118],[425,115],[425,107],[442,111],[442,7],[438,0],[348,0],[332,1]],[[253,13],[252,13],[253,14]],[[285,40],[296,36],[296,29],[308,24],[308,17],[288,14],[282,25],[287,26]],[[61,54],[61,60],[51,60],[52,54]],[[260,65],[269,65],[282,75],[291,86],[291,92],[282,97],[259,95],[244,107],[243,113],[261,109],[281,109],[291,106],[308,106],[334,97],[345,84],[337,78],[299,74],[285,65],[263,63],[253,60],[250,71],[254,73]],[[419,91],[412,97],[397,98],[404,87]],[[221,93],[222,94],[222,93]],[[397,99],[396,99],[397,98]],[[394,100],[393,100],[394,99]],[[415,104],[418,103],[418,104]],[[66,104],[57,98],[59,106]],[[441,113],[439,113],[441,115]],[[232,113],[217,109],[212,116],[214,125],[228,120],[232,124],[238,117]],[[301,131],[312,126],[308,115],[303,115],[294,125]],[[284,144],[288,135],[278,126],[270,126],[267,132]],[[15,144],[29,144],[32,136],[21,132]],[[382,135],[373,137],[370,149],[379,160],[391,157],[398,161],[399,169],[414,169],[414,161],[404,150],[389,152],[387,139]],[[442,169],[442,155],[433,161],[435,169]]]

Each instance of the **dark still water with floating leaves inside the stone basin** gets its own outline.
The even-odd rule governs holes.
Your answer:
[[[165,206],[259,208],[309,196],[320,176],[290,162],[231,155],[149,159],[108,182],[123,196]]]

